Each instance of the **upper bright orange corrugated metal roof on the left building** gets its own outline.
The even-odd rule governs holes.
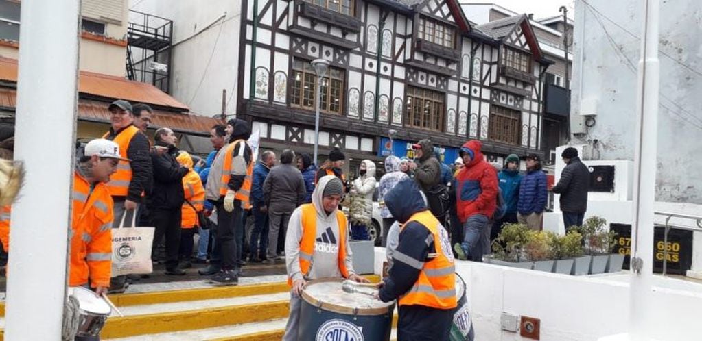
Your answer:
[[[0,57],[0,81],[17,82],[17,60]],[[81,94],[107,99],[126,99],[129,102],[152,104],[173,111],[190,111],[185,104],[154,85],[128,81],[117,76],[80,71],[78,91]]]

